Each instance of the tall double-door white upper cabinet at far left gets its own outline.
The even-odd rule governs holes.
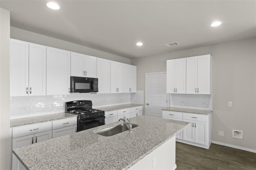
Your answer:
[[[10,39],[10,95],[46,95],[46,47]]]

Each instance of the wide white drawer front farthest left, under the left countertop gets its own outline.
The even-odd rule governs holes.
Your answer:
[[[52,130],[52,122],[38,123],[34,125],[27,125],[23,127],[12,128],[12,138],[45,132]]]

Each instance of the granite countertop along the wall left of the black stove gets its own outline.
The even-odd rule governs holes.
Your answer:
[[[20,119],[11,119],[10,127],[19,127],[24,125],[32,125],[35,123],[42,123],[48,121],[56,121],[59,119],[66,119],[70,117],[77,117],[76,115],[70,113],[55,113],[50,115],[34,116],[34,117],[25,117]]]

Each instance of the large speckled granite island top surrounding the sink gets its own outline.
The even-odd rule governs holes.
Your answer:
[[[130,120],[138,125],[132,132],[94,133],[121,123],[116,122],[16,148],[13,153],[29,170],[126,170],[190,124],[144,115]]]

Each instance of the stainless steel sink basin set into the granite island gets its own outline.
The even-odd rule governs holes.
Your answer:
[[[139,125],[132,124],[132,128],[138,127]],[[95,132],[96,134],[100,134],[102,136],[113,136],[115,134],[121,133],[128,130],[125,124],[119,124],[114,127],[105,128]]]

